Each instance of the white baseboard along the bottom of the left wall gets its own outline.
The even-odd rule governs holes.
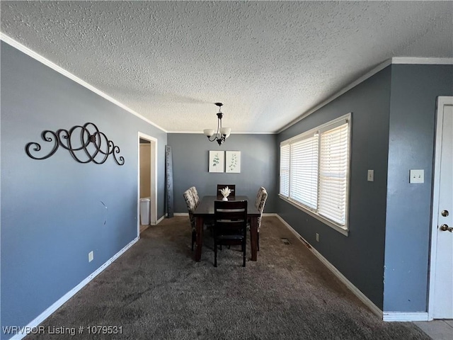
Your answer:
[[[87,278],[81,281],[78,285],[76,285],[74,288],[69,290],[68,293],[64,294],[62,297],[60,297],[57,301],[55,301],[50,307],[47,308],[44,312],[42,312],[38,317],[33,319],[32,322],[27,324],[27,326],[24,327],[24,329],[33,329],[34,327],[38,327],[38,325],[43,322],[47,317],[50,317],[50,315],[55,312],[59,307],[62,307],[65,302],[67,302],[71,297],[76,295],[76,293],[79,292],[82,288],[84,288],[88,283],[90,283],[93,278],[96,278],[100,273],[104,271],[105,268],[110,266],[113,261],[115,261],[118,257],[120,257],[127,249],[130,249],[131,246],[133,246],[137,241],[139,240],[138,237],[133,239],[131,242],[129,242],[124,248],[122,248],[120,251],[118,251],[115,255],[113,255],[108,261],[106,261],[102,266],[100,266],[96,271],[93,271]],[[27,334],[16,334],[13,337],[11,337],[11,340],[20,340],[23,339]]]

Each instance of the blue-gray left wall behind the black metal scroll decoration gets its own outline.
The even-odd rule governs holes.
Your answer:
[[[81,164],[62,147],[25,154],[28,142],[47,154],[43,130],[87,122],[120,147],[123,166],[111,155]],[[27,325],[137,237],[138,131],[159,140],[162,216],[166,133],[1,42],[2,327]]]

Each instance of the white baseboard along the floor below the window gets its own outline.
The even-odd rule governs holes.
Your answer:
[[[360,301],[362,301],[365,305],[367,305],[367,307],[369,307],[369,309],[374,313],[376,314],[378,317],[383,317],[383,314],[382,314],[382,310],[377,307],[377,305],[374,305],[374,303],[372,302],[372,300],[369,300],[369,298],[364,294],[362,293],[357,287],[355,287],[355,285],[353,285],[350,280],[348,280],[347,278],[345,278],[345,276],[343,276],[342,273],[340,273],[340,271],[338,271],[337,268],[335,268],[335,266],[333,266],[332,263],[330,263],[324,256],[321,255],[321,253],[319,253],[319,251],[317,251],[316,249],[314,249],[313,246],[311,246],[311,244],[309,244],[309,242],[306,242],[306,239],[304,239],[296,230],[294,230],[285,220],[282,219],[282,217],[280,217],[280,215],[277,215],[278,219],[291,231],[294,233],[294,235],[296,235],[297,239],[299,239],[301,242],[303,242],[308,249],[311,250],[311,252],[319,259],[321,260],[321,262],[333,273],[333,275],[335,275],[341,282],[343,282],[347,288],[349,288],[349,290],[359,298]]]

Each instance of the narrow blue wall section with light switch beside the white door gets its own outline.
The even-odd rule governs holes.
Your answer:
[[[437,96],[453,96],[453,65],[392,65],[384,311],[427,311]]]

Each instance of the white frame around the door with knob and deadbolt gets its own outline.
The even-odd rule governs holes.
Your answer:
[[[437,259],[437,219],[439,210],[439,189],[440,189],[440,156],[442,147],[442,123],[443,108],[447,104],[453,104],[453,96],[438,96],[435,109],[435,157],[434,171],[432,176],[432,210],[431,210],[431,242],[430,242],[430,273],[428,291],[428,320],[432,320],[434,314],[434,280],[436,274]]]

